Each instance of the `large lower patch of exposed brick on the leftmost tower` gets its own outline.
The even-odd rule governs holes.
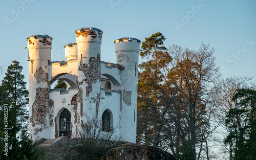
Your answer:
[[[49,113],[49,91],[46,88],[36,88],[35,102],[33,108],[33,127],[38,125],[46,125],[46,116]]]

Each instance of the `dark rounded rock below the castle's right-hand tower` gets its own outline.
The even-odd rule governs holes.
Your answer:
[[[153,146],[126,143],[113,149],[113,155],[109,155],[105,160],[175,160],[174,156],[168,152]]]

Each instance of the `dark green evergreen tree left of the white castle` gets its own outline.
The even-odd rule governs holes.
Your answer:
[[[29,93],[26,89],[22,69],[23,67],[19,65],[19,62],[13,61],[13,64],[8,66],[6,76],[0,87],[0,120],[7,122],[0,124],[2,140],[6,137],[4,131],[8,131],[8,156],[5,155],[6,152],[3,150],[5,142],[0,142],[2,159],[38,159],[35,145],[29,139],[28,134],[29,114],[27,106]],[[4,117],[6,108],[8,118]]]

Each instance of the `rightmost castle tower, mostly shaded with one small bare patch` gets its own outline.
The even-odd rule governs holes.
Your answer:
[[[116,62],[124,66],[121,72],[123,84],[121,109],[121,134],[125,140],[136,143],[137,83],[140,40],[120,38],[115,42]],[[133,116],[132,116],[133,115]],[[125,134],[125,133],[131,134]]]

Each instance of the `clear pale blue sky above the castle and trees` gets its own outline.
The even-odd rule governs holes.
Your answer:
[[[29,3],[28,3],[29,2]],[[26,38],[53,38],[52,61],[65,60],[63,46],[75,42],[75,30],[103,31],[101,60],[116,62],[114,40],[135,37],[144,41],[156,32],[165,45],[197,50],[202,42],[216,49],[223,77],[256,78],[256,1],[0,1],[0,65],[6,72],[12,60],[24,67],[28,82]],[[0,76],[2,80],[4,74]],[[254,79],[255,80],[255,79]]]

